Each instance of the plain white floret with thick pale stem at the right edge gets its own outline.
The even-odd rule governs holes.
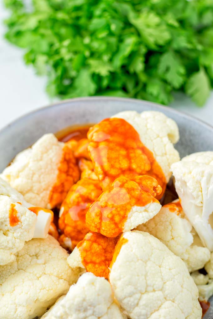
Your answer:
[[[211,163],[209,153],[207,152],[207,163]],[[172,164],[171,170],[175,177],[175,188],[187,218],[203,245],[213,251],[213,165],[206,164],[205,152],[202,154],[202,156],[197,153],[191,154]]]

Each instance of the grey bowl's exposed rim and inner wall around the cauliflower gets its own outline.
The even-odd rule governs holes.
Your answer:
[[[45,133],[55,133],[72,125],[95,123],[120,111],[160,111],[174,119],[180,131],[176,145],[180,156],[199,151],[213,151],[213,127],[174,109],[141,100],[90,97],[65,100],[41,108],[12,122],[0,131],[0,171],[23,149]],[[205,319],[213,318],[213,298]]]

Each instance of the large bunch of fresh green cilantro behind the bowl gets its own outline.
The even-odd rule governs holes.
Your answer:
[[[199,106],[213,85],[212,0],[4,0],[5,37],[62,99],[112,95]]]

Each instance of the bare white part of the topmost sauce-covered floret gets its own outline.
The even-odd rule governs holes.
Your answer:
[[[139,133],[141,142],[153,152],[168,182],[171,177],[171,164],[180,159],[178,151],[173,146],[179,140],[176,122],[156,111],[145,111],[141,114],[136,111],[124,111],[113,117],[129,122]]]

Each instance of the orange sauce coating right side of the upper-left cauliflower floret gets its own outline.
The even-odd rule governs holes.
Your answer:
[[[80,172],[69,143],[65,143],[58,167],[57,181],[49,194],[49,204],[56,207],[66,197],[70,187],[79,180]]]

